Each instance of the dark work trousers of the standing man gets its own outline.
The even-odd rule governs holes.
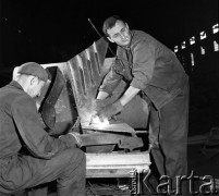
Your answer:
[[[168,175],[175,188],[175,176],[187,174],[188,89],[160,110],[149,113],[153,158],[160,175]]]

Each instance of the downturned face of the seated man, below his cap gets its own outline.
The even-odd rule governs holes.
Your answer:
[[[39,79],[38,77],[33,77],[29,81],[29,87],[27,89],[27,94],[32,97],[32,98],[36,98],[40,96],[40,93],[44,88],[45,82]]]

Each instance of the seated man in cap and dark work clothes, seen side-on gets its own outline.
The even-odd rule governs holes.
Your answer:
[[[0,195],[54,180],[59,196],[85,195],[85,155],[75,147],[78,137],[69,133],[53,138],[39,120],[33,98],[47,79],[41,65],[28,62],[0,89]],[[22,148],[28,151],[21,154]]]

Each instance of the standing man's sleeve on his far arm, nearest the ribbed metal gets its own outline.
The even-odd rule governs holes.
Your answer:
[[[115,73],[114,65],[111,66],[110,71],[105,76],[105,79],[104,79],[101,86],[99,87],[99,91],[106,91],[109,95],[111,95],[112,91],[114,90],[114,88],[121,82],[121,79],[122,79],[122,76]]]

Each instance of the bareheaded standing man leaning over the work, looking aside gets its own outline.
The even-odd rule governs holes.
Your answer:
[[[130,86],[119,100],[97,114],[109,119],[143,94],[149,106],[153,157],[160,175],[169,175],[175,188],[175,176],[187,173],[188,77],[174,52],[150,35],[131,30],[121,17],[108,17],[102,30],[118,48],[114,64],[99,88],[97,108],[121,79]]]

